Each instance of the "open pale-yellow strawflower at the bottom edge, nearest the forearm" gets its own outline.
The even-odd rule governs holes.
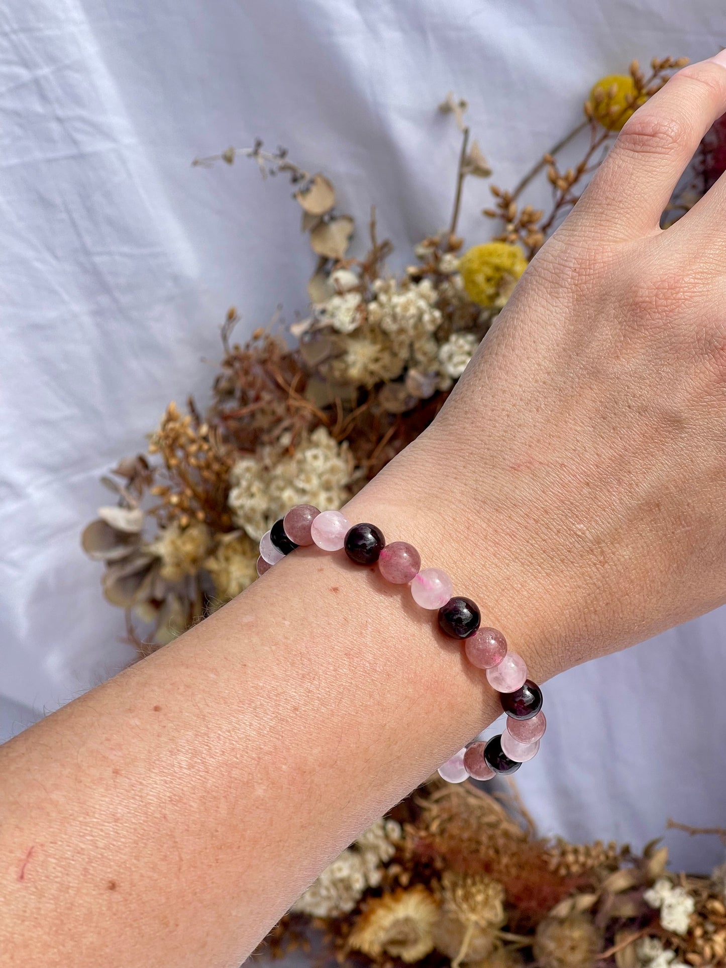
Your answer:
[[[348,937],[348,947],[378,959],[383,953],[408,964],[434,949],[433,929],[439,905],[423,885],[399,888],[372,898]]]

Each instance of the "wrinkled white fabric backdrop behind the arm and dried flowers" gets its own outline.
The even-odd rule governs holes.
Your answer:
[[[78,533],[98,475],[169,399],[203,401],[229,304],[249,331],[305,309],[311,257],[282,181],[190,167],[262,136],[322,167],[398,247],[445,224],[470,121],[512,185],[637,56],[708,56],[721,0],[6,0],[0,9],[0,729],[10,735],[130,658]],[[487,237],[470,184],[462,228]],[[536,201],[536,196],[533,197]],[[398,260],[398,261],[397,261]],[[210,361],[203,364],[204,358]],[[668,816],[726,823],[726,687],[714,614],[548,687],[521,788],[544,832],[635,844]],[[588,690],[583,703],[581,690]],[[669,835],[674,860],[715,838]]]

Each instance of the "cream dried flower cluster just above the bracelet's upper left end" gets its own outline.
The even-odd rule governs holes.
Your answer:
[[[286,446],[282,440],[281,446]],[[351,473],[348,442],[337,443],[324,427],[318,427],[294,454],[280,457],[279,447],[268,447],[258,458],[237,461],[229,474],[232,517],[259,541],[295,504],[337,510],[348,499]]]

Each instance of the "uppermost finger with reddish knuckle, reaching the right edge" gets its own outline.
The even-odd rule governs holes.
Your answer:
[[[726,51],[684,67],[629,118],[578,208],[610,236],[656,231],[681,174],[726,111]],[[577,209],[576,209],[577,211]]]

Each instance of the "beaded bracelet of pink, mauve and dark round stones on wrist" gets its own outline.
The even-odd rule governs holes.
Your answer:
[[[525,660],[507,650],[506,639],[496,628],[481,628],[479,609],[470,598],[452,597],[449,576],[440,568],[421,568],[421,557],[406,541],[385,543],[375,525],[350,525],[340,511],[319,511],[312,504],[297,504],[280,518],[259,542],[257,574],[301,545],[318,545],[323,551],[345,549],[356,564],[378,562],[378,571],[394,585],[409,585],[421,608],[438,610],[439,628],[454,639],[465,640],[471,665],[485,669],[489,684],[499,692],[506,712],[506,729],[487,742],[470,742],[441,767],[449,783],[469,776],[489,780],[498,773],[513,773],[539,749],[547,721],[542,712],[542,691],[527,678]]]

